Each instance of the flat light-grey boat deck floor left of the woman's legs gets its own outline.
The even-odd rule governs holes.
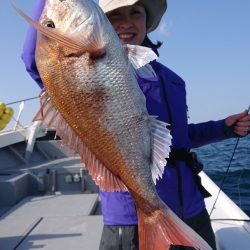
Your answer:
[[[93,215],[97,204],[98,194],[26,197],[0,220],[0,249],[96,250],[103,227]]]

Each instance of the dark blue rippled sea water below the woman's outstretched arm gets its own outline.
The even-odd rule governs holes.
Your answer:
[[[232,158],[237,138],[195,149],[205,173],[220,186]],[[250,216],[250,135],[240,138],[222,190]]]

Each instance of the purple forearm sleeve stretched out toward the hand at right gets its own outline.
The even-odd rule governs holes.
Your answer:
[[[191,141],[191,148],[197,148],[209,143],[228,139],[224,133],[225,120],[208,121],[188,125],[188,135]]]

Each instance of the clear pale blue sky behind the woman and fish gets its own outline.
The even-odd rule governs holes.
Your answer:
[[[12,2],[27,14],[34,4]],[[160,26],[150,33],[152,41],[163,42],[159,61],[186,83],[189,122],[223,119],[250,105],[249,13],[249,0],[169,0]],[[9,0],[1,1],[0,24],[0,102],[38,96],[40,88],[20,58],[28,24]],[[18,105],[9,106],[17,118]],[[38,99],[25,102],[22,125],[38,107]]]

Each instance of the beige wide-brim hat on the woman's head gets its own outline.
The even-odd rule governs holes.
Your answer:
[[[112,10],[141,2],[147,12],[147,32],[155,30],[167,9],[167,0],[99,0],[99,5],[108,13]]]

